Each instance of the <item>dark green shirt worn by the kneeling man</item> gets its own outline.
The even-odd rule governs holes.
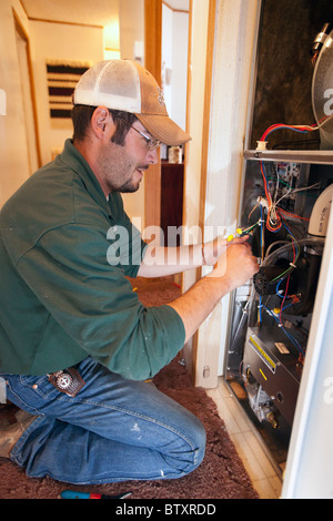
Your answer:
[[[121,195],[107,201],[70,140],[6,203],[0,231],[0,372],[43,375],[92,356],[145,379],[182,348],[176,311],[145,308],[127,278],[145,244]]]

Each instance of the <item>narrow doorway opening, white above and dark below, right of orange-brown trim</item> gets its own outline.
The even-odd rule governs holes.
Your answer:
[[[186,127],[189,0],[163,2],[161,83],[170,118]],[[161,147],[161,242],[182,243],[185,147]]]

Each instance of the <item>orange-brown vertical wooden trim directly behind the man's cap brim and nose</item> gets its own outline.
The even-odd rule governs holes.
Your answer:
[[[162,0],[144,0],[144,67],[161,85]],[[161,223],[161,164],[150,165],[144,177],[144,226]]]

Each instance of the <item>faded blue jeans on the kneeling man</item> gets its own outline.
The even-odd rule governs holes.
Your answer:
[[[201,463],[205,432],[191,412],[90,357],[75,367],[85,381],[75,397],[47,376],[0,375],[8,399],[37,415],[10,454],[28,476],[75,484],[173,479]]]

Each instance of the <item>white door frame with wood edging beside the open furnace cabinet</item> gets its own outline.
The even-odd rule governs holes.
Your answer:
[[[195,185],[195,190],[191,190],[185,225],[200,225],[201,235],[205,229],[214,234],[221,229],[219,234],[228,236],[238,223],[260,0],[246,6],[242,0],[209,0],[205,11],[201,0],[192,0],[191,3],[193,49],[190,63],[196,82],[192,81],[189,96],[191,124],[188,132],[193,141],[185,164],[185,197],[190,187]],[[206,17],[204,21],[203,14]],[[200,40],[194,38],[198,27],[202,28]],[[200,103],[199,91],[203,92]],[[209,237],[203,236],[203,239]],[[208,269],[200,269],[196,277],[186,272],[184,290]],[[184,347],[186,364],[196,386],[216,387],[224,365],[229,313],[230,300],[225,296]]]

